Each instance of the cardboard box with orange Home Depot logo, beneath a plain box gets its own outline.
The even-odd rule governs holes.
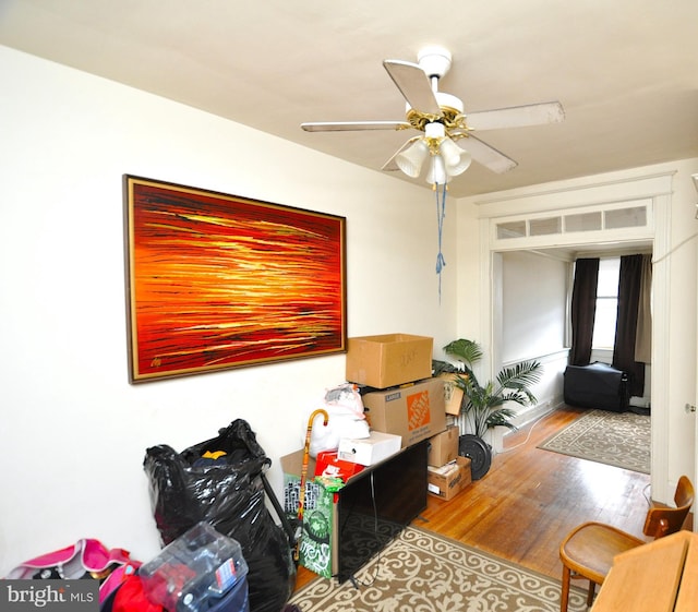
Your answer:
[[[444,381],[441,377],[366,393],[362,399],[371,429],[399,435],[402,447],[446,430]]]

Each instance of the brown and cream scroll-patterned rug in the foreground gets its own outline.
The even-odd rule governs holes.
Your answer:
[[[559,583],[448,538],[408,527],[357,575],[316,578],[290,603],[302,612],[557,612]],[[586,610],[573,589],[570,612]]]

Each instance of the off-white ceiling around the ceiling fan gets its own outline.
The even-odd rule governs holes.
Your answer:
[[[696,0],[0,0],[0,44],[376,171],[412,132],[306,133],[404,119],[383,59],[450,49],[467,111],[559,100],[563,123],[478,132],[518,161],[454,196],[698,157]],[[46,92],[50,96],[50,91]],[[176,127],[173,127],[176,128]],[[429,188],[423,179],[407,179]]]

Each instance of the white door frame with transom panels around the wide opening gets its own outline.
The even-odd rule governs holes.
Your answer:
[[[624,189],[627,188],[627,189]],[[624,200],[627,191],[634,199]],[[645,196],[640,196],[642,193]],[[590,204],[593,195],[595,204]],[[605,195],[605,199],[602,197]],[[599,204],[599,202],[603,202]],[[562,205],[565,205],[561,208]],[[643,206],[646,225],[622,228],[605,223],[597,229],[564,233],[565,217],[586,223],[591,213],[624,211]],[[489,339],[491,372],[497,371],[504,361],[502,309],[502,254],[528,251],[547,256],[565,256],[573,253],[614,252],[650,248],[653,253],[667,253],[671,221],[671,175],[640,177],[627,184],[586,185],[579,190],[547,191],[538,196],[530,193],[521,199],[483,202],[479,205],[481,307],[480,328]],[[507,215],[507,212],[512,212]],[[516,214],[514,214],[516,212]],[[615,214],[615,213],[614,213]],[[616,217],[618,215],[616,214]],[[622,217],[623,215],[621,215]],[[559,220],[557,220],[559,218]],[[531,224],[531,219],[535,223]],[[551,219],[553,219],[551,221]],[[544,221],[544,223],[543,223]],[[553,228],[551,230],[551,227]],[[575,227],[575,226],[573,226]],[[557,231],[559,229],[562,231]],[[579,229],[579,226],[576,226]],[[669,281],[671,257],[655,256],[653,262],[652,304],[652,496],[658,501],[671,497],[669,490]],[[559,367],[559,365],[557,365]]]

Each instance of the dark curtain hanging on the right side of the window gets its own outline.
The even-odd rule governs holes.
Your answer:
[[[642,255],[621,257],[613,367],[627,372],[630,395],[640,397],[645,391],[645,363],[635,361],[635,339],[641,280]]]

